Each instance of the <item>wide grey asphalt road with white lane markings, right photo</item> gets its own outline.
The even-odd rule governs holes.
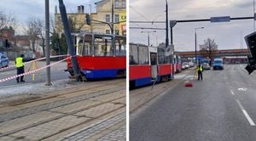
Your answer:
[[[131,114],[131,141],[256,140],[256,75],[245,65],[204,71],[203,81],[184,78]],[[193,87],[184,87],[185,82]]]

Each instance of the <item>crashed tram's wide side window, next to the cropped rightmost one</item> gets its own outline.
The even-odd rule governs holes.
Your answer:
[[[96,56],[113,56],[113,48],[111,45],[111,37],[96,37],[95,38],[95,53]]]

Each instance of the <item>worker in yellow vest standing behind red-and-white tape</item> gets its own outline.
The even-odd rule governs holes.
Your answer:
[[[15,65],[16,65],[16,68],[17,68],[17,75],[20,75],[20,74],[24,73],[24,64],[23,64],[24,59],[23,58],[24,58],[24,54],[20,54],[20,56],[15,59]],[[16,78],[16,81],[17,82],[25,82],[23,80],[23,78],[24,78],[24,76],[18,76]]]

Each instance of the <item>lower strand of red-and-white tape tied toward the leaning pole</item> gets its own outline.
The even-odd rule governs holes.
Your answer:
[[[69,58],[70,58],[70,57],[67,57],[66,59],[69,59]],[[57,62],[55,62],[55,63],[52,63],[52,64],[50,64],[50,65],[45,65],[45,66],[43,66],[43,67],[41,67],[41,68],[38,68],[38,69],[35,69],[35,70],[32,70],[32,71],[26,71],[25,73],[22,73],[22,74],[20,74],[20,75],[9,76],[9,77],[0,79],[0,82],[6,82],[6,81],[9,81],[9,80],[15,79],[15,78],[17,78],[17,77],[20,77],[20,76],[26,76],[26,75],[35,73],[35,72],[37,72],[37,71],[41,71],[41,70],[43,70],[43,69],[45,69],[45,68],[48,68],[49,66],[52,66],[52,65],[56,65],[56,64],[58,64],[58,63],[61,63],[61,62],[65,61],[66,59],[61,59],[61,60],[59,60],[59,61],[57,61]]]

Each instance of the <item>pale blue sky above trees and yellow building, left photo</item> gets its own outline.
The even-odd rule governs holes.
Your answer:
[[[84,5],[84,12],[90,12],[90,6],[92,6],[92,12],[95,11],[96,5],[94,3],[100,0],[63,0],[67,8],[67,13],[77,12],[77,6]],[[58,8],[59,13],[59,1],[49,0],[49,14],[54,17],[55,6]],[[44,0],[1,0],[0,10],[5,14],[15,14],[18,20],[17,34],[23,33],[23,26],[26,25],[27,20],[30,17],[37,17],[44,20]]]

